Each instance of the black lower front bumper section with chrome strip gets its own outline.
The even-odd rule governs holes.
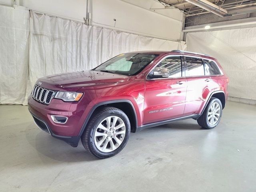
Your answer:
[[[80,136],[61,136],[61,135],[56,135],[56,134],[54,134],[54,132],[52,132],[52,129],[50,128],[50,126],[47,124],[47,122],[45,120],[43,120],[42,118],[38,117],[36,114],[32,113],[30,110],[29,110],[29,112],[33,116],[34,123],[36,124],[36,126],[38,126],[38,128],[40,128],[42,131],[50,134],[54,138],[57,138],[57,139],[65,141],[66,143],[70,144],[72,147],[77,147],[78,146],[78,142],[79,142]]]

